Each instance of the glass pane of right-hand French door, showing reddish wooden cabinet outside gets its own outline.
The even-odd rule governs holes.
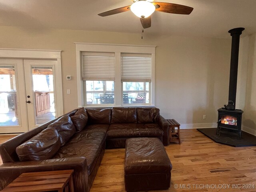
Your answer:
[[[44,124],[55,118],[53,74],[52,67],[32,66],[32,84],[37,125]]]

